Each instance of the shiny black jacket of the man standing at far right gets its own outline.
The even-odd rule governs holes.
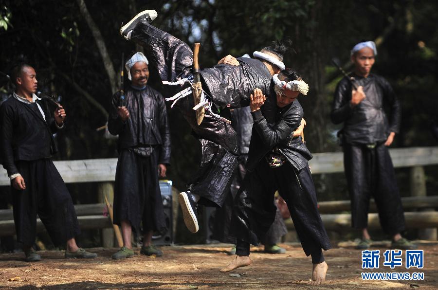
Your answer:
[[[382,77],[370,74],[367,78],[354,75],[364,87],[365,99],[356,107],[350,107],[351,83],[344,77],[337,85],[331,121],[344,123],[340,131],[341,141],[348,144],[371,144],[385,141],[390,132],[398,133],[401,106],[391,85]],[[389,121],[384,109],[389,111]]]

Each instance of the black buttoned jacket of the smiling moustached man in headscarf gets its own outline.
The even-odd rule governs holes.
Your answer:
[[[119,135],[119,150],[142,145],[161,145],[158,163],[170,164],[170,130],[163,95],[146,86],[142,91],[128,88],[125,98],[128,120],[123,122],[117,114],[120,92],[111,98],[108,117],[108,130],[113,135]]]

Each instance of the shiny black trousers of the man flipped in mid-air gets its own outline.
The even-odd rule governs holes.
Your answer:
[[[158,71],[162,81],[174,82],[179,77],[184,78],[192,73],[193,53],[190,47],[147,21],[137,24],[132,31],[131,40],[144,47],[149,66]],[[168,96],[181,90],[181,86],[164,86],[165,95]],[[237,133],[230,124],[207,111],[198,126],[195,111],[192,109],[193,97],[190,95],[179,100],[176,107],[180,109],[202,146],[201,167],[190,182],[189,190],[201,196],[200,204],[220,207],[225,201],[238,164]]]

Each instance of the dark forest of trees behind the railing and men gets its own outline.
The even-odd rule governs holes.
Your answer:
[[[200,64],[210,67],[227,54],[240,56],[290,37],[296,54],[286,56],[310,84],[300,97],[307,145],[312,152],[339,151],[329,121],[333,91],[341,75],[330,59],[351,69],[349,51],[374,40],[374,73],[392,84],[402,103],[402,128],[392,147],[437,145],[431,126],[438,114],[438,2],[427,0],[2,0],[0,71],[25,60],[36,68],[38,90],[60,95],[67,110],[57,134],[59,160],[117,156],[116,140],[96,131],[105,125],[112,93],[119,90],[121,54],[140,49],[119,34],[138,12],[155,9],[153,24],[190,45],[201,42]],[[128,83],[128,80],[125,80]],[[151,85],[153,85],[151,83]],[[0,95],[11,88],[1,78]],[[197,168],[199,145],[177,110],[168,110],[172,159],[168,178],[184,187]],[[426,167],[428,194],[437,194],[437,166]],[[408,169],[398,169],[402,195],[409,195]],[[347,199],[343,174],[314,176],[318,198]],[[85,187],[85,188],[84,188]],[[94,202],[93,184],[69,184],[78,203]]]

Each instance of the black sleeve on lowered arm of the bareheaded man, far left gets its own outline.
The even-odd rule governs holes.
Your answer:
[[[14,153],[12,150],[12,138],[14,134],[15,112],[11,106],[3,104],[0,107],[1,120],[1,160],[8,176],[19,173],[14,163]]]

